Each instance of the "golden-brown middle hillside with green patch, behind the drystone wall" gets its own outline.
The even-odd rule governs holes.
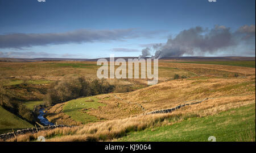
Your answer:
[[[96,100],[85,102],[89,101],[88,98],[96,98]],[[57,123],[70,124],[72,122],[65,121],[66,119],[70,119],[68,117],[82,123],[99,121],[98,119],[122,119],[149,111],[169,109],[188,101],[199,101],[204,98],[210,99],[207,104],[200,105],[195,111],[200,111],[200,109],[206,109],[208,107],[217,107],[216,105],[220,106],[220,110],[222,110],[225,109],[224,106],[226,104],[240,106],[244,102],[255,100],[255,76],[245,78],[212,76],[181,78],[161,82],[157,85],[135,90],[134,92],[110,93],[79,98],[66,102],[63,106],[56,105],[51,107],[49,113],[52,112],[55,114],[49,119]],[[98,107],[97,102],[105,106]],[[95,107],[86,106],[91,104],[97,105]],[[65,113],[67,117],[60,117],[58,113]],[[73,122],[73,125],[77,125],[77,123]]]

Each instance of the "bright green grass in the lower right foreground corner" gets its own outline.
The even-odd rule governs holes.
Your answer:
[[[255,104],[203,118],[190,118],[174,125],[129,133],[118,141],[216,141],[255,142]]]

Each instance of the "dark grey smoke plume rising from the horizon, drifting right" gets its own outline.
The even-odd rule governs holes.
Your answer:
[[[175,38],[169,38],[166,44],[152,47],[155,50],[152,58],[178,57],[195,53],[204,55],[220,49],[236,47],[249,39],[255,39],[255,25],[242,26],[236,32],[231,32],[230,28],[225,26],[215,26],[210,30],[198,26],[181,31]],[[255,40],[250,42],[254,42],[255,45]],[[142,55],[143,52],[144,49]]]

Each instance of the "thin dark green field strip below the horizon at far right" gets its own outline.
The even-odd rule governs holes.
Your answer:
[[[255,68],[255,61],[162,61],[167,63],[217,64]]]

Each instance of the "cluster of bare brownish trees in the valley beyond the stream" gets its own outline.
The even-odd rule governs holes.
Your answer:
[[[77,97],[93,96],[96,94],[113,92],[114,85],[110,85],[104,79],[78,77],[64,78],[63,81],[53,82],[47,91],[46,101],[48,105],[69,101]]]

